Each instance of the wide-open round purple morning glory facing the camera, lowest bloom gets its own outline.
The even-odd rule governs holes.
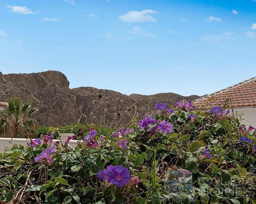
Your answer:
[[[128,168],[114,166],[108,170],[107,178],[112,184],[115,184],[117,187],[122,187],[129,182],[131,175]]]

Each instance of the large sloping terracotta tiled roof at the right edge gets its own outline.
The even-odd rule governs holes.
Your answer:
[[[256,77],[250,78],[234,86],[222,89],[213,94],[202,96],[193,101],[195,106],[206,104],[206,101],[214,98],[212,105],[222,104],[225,100],[231,99],[232,106],[248,107],[256,106]]]

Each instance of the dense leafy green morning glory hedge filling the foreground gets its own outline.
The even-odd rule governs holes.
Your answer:
[[[52,164],[34,162],[46,144],[14,146],[0,154],[0,200],[42,204],[255,203],[255,132],[247,132],[245,127],[241,130],[241,126],[239,131],[238,118],[226,114],[217,118],[210,108],[187,111],[175,107],[172,114],[154,111],[158,124],[163,120],[172,123],[173,132],[156,130],[150,135],[156,125],[138,129],[134,123],[130,126],[134,132],[125,137],[105,134],[102,141],[102,132],[98,133],[97,147],[89,148],[83,141],[78,141],[74,150],[59,145],[51,154]],[[194,121],[188,115],[196,115]],[[40,131],[38,134],[43,133]],[[242,136],[250,138],[250,144],[240,142]],[[120,146],[123,140],[127,140],[125,149]],[[212,159],[204,158],[205,149]],[[140,182],[120,188],[103,182],[96,174],[108,165],[128,168]],[[176,169],[193,173],[191,188],[178,193],[165,188],[165,172]]]

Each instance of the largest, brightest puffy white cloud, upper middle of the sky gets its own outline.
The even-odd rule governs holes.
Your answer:
[[[153,18],[150,14],[157,14],[157,12],[149,9],[142,11],[128,11],[128,13],[119,16],[119,20],[126,23],[157,22],[156,18]]]

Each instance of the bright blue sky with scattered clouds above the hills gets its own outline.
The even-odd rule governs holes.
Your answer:
[[[1,0],[0,71],[204,95],[256,76],[256,0]]]

